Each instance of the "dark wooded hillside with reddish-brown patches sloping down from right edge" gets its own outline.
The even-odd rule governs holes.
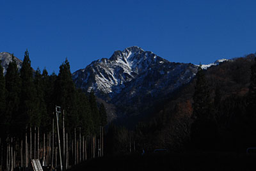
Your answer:
[[[132,131],[110,125],[108,155],[128,154],[134,142],[135,151],[244,153],[256,147],[255,54],[198,68],[189,84],[168,96]]]

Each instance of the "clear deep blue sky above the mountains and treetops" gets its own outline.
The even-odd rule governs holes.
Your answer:
[[[256,1],[0,1],[0,52],[71,71],[133,45],[203,64],[256,51]]]

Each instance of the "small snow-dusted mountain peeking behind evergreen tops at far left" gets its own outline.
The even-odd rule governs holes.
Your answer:
[[[17,57],[14,57],[14,60],[17,63],[18,69],[20,70],[20,68],[22,66],[22,61],[20,59],[18,59]],[[3,72],[5,75],[9,63],[12,61],[12,54],[10,54],[8,52],[0,52],[0,61],[1,61],[1,65],[3,66]]]

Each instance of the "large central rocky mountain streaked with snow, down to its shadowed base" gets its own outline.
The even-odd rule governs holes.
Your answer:
[[[76,86],[115,105],[116,116],[141,116],[150,105],[187,84],[198,66],[171,63],[140,47],[115,51],[72,74]]]

